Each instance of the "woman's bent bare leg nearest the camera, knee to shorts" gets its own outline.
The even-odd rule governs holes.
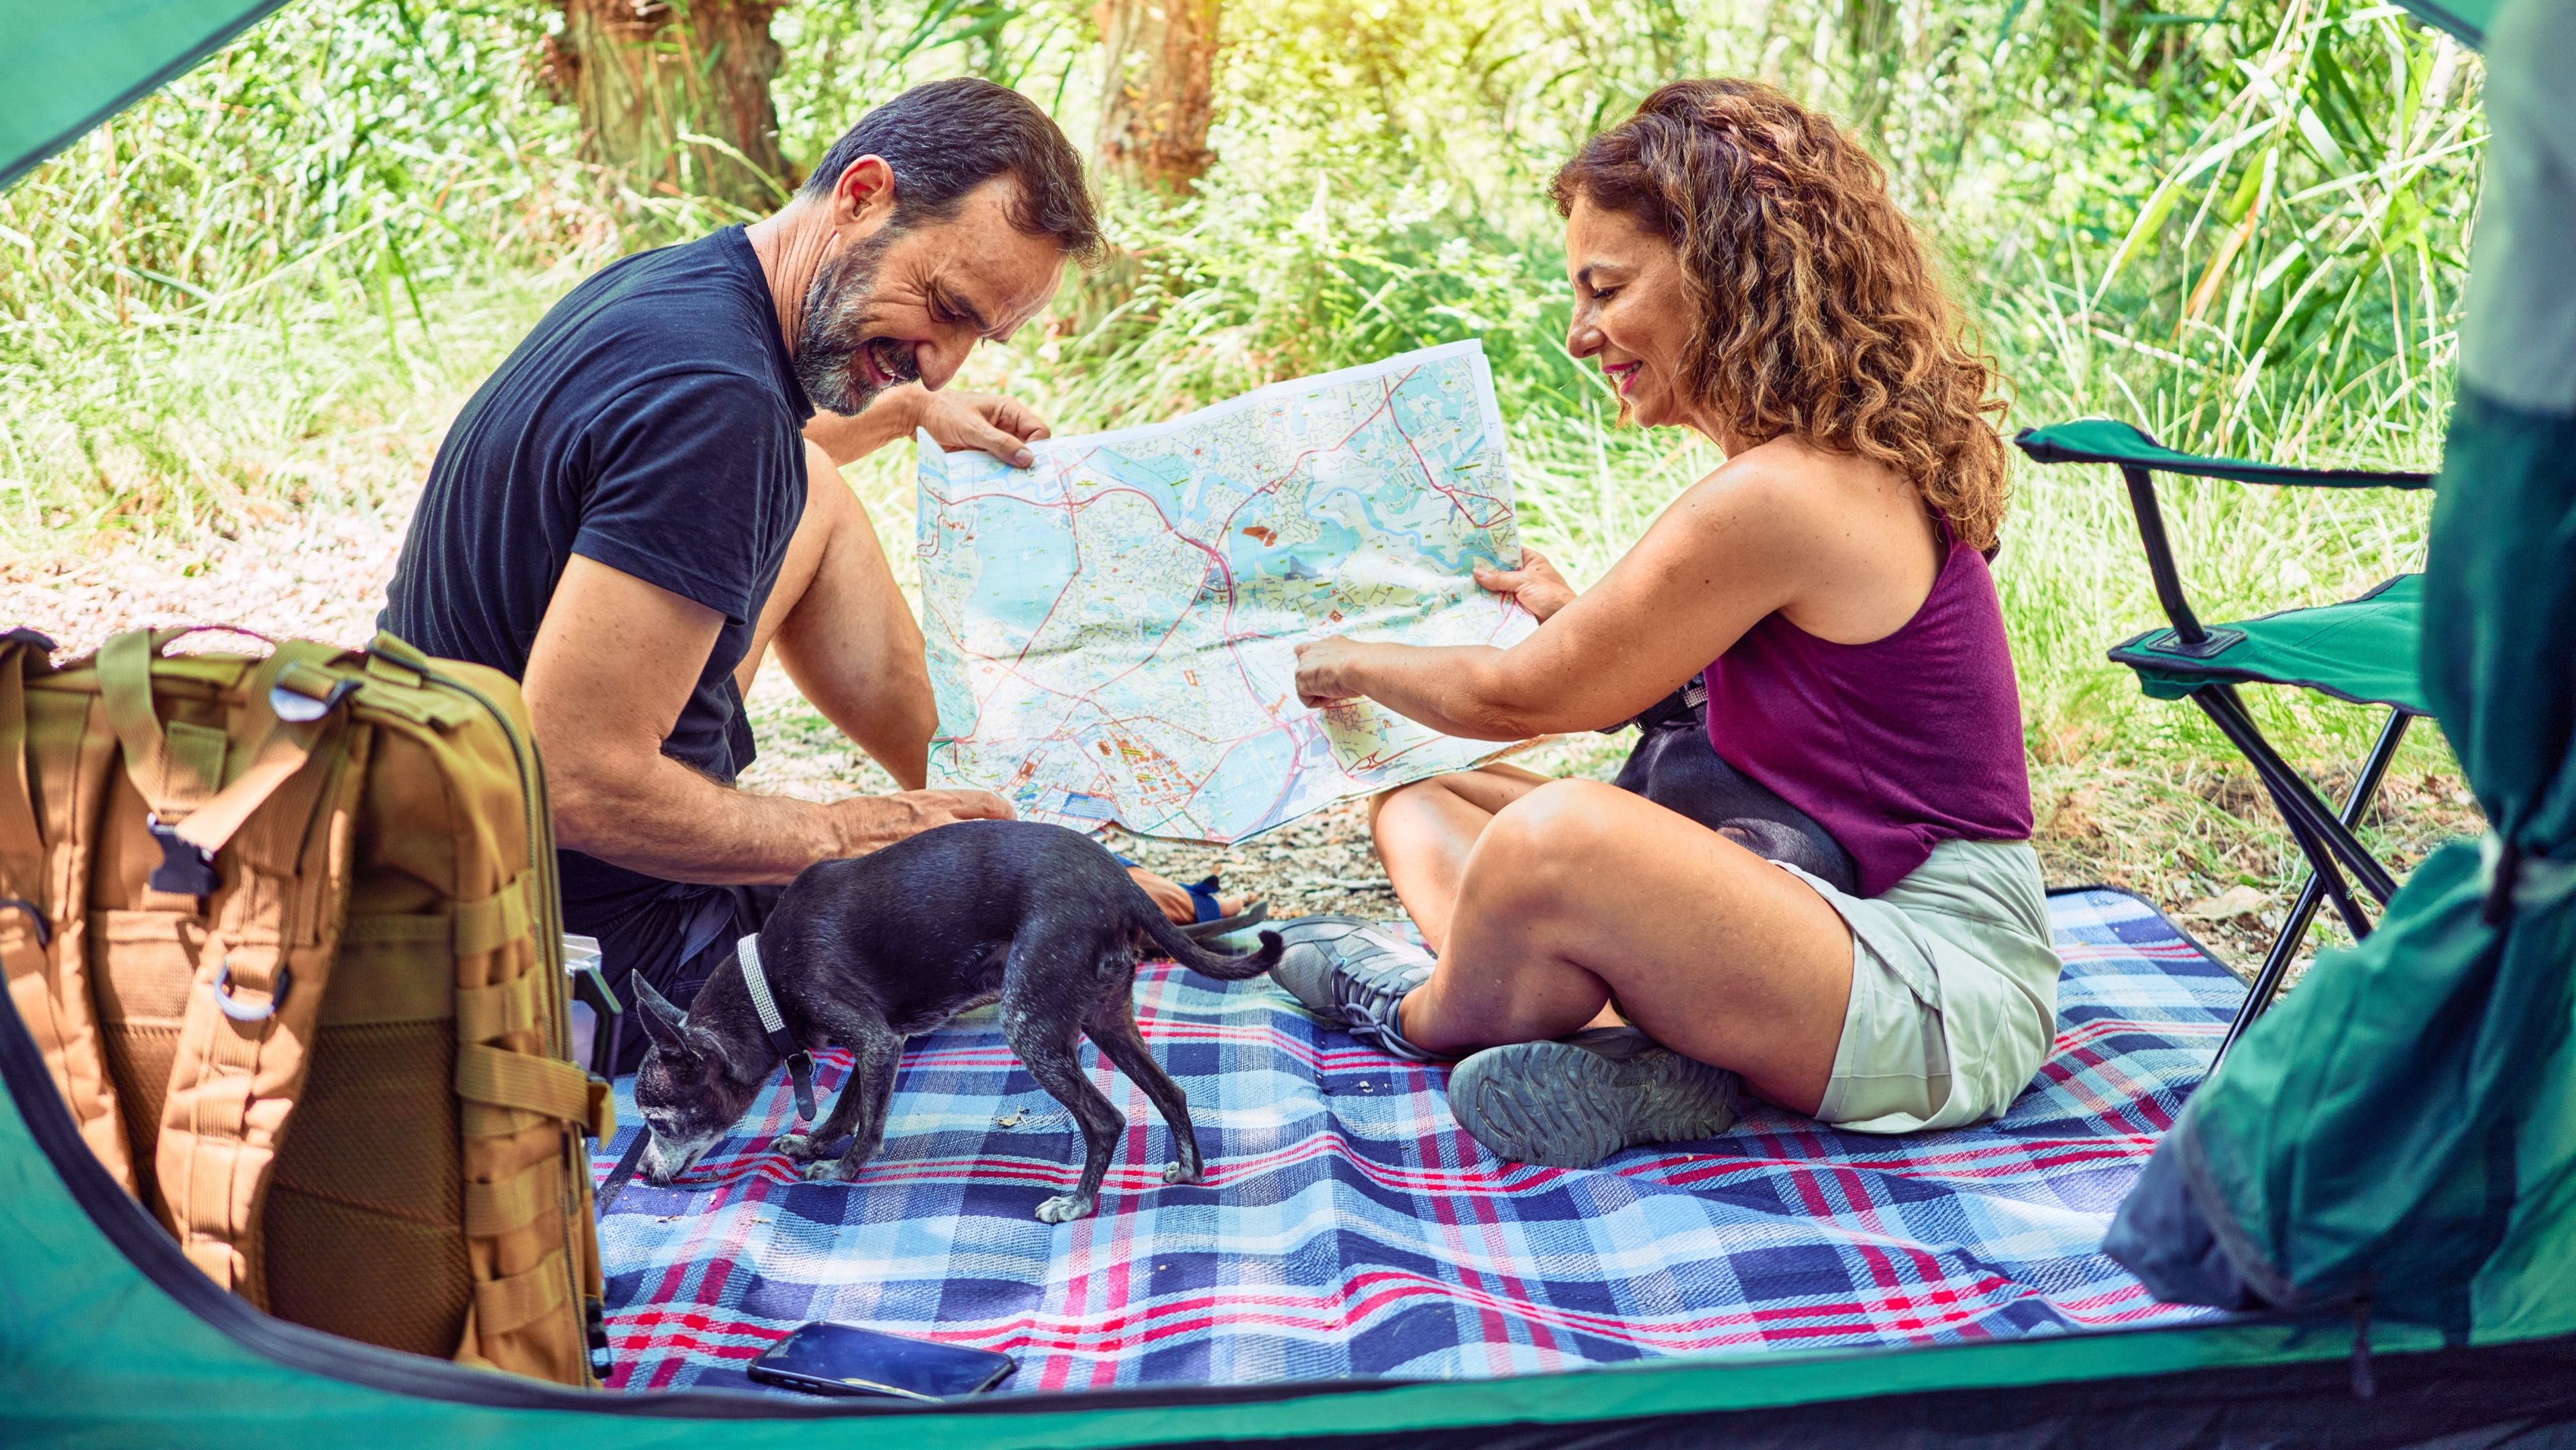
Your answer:
[[[1654,1040],[1814,1113],[1852,932],[1811,886],[1641,796],[1551,780],[1468,852],[1440,966],[1401,1007],[1435,1053],[1564,1038],[1618,994]]]

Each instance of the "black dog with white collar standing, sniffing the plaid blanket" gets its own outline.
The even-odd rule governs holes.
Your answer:
[[[1126,1118],[1082,1074],[1074,1040],[1126,1071],[1162,1120],[1180,1159],[1164,1182],[1198,1182],[1190,1105],[1136,1033],[1136,961],[1146,945],[1224,981],[1262,976],[1280,956],[1262,932],[1249,956],[1216,956],[1164,919],[1110,852],[1064,827],[1036,822],[958,822],[889,845],[876,855],[809,865],[760,927],[760,971],[801,1051],[850,1048],[850,1082],[832,1113],[775,1149],[806,1164],[809,1180],[848,1180],[886,1136],[886,1100],[904,1038],[948,1017],[1002,1002],[1002,1040],[1038,1087],[1082,1123],[1082,1185],[1048,1198],[1038,1218],[1082,1218],[1100,1200],[1100,1177]],[[636,1110],[652,1141],[649,1182],[698,1162],[778,1071],[752,1004],[742,958],[716,968],[683,1017],[641,976],[631,979],[652,1038],[636,1071]],[[850,1149],[822,1149],[850,1136]]]

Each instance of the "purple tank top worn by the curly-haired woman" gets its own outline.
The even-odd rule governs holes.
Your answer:
[[[1937,842],[2030,840],[2004,608],[1986,556],[1955,538],[1922,608],[1886,639],[1834,644],[1777,613],[1744,631],[1708,667],[1708,744],[1834,832],[1862,896]]]

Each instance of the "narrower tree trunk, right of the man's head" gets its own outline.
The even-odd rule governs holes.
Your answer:
[[[1188,196],[1216,160],[1218,0],[1103,0],[1100,165]]]

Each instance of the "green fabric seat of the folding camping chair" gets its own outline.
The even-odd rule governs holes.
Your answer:
[[[2424,574],[2398,574],[2385,585],[2306,610],[2282,610],[2213,626],[2241,634],[2210,654],[2174,649],[2172,628],[2151,628],[2120,641],[2110,657],[2138,672],[2138,685],[2159,701],[2228,680],[2241,685],[2300,685],[2357,706],[2396,706],[2432,713],[2416,659],[2424,621]]]

